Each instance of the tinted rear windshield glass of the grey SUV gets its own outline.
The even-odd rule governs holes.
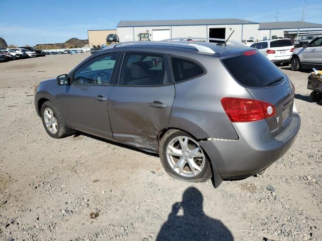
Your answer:
[[[250,87],[265,87],[284,78],[283,73],[261,53],[241,54],[221,59],[230,74]]]

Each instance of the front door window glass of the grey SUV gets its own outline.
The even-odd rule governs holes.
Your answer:
[[[72,84],[110,84],[117,54],[98,57],[74,73]]]

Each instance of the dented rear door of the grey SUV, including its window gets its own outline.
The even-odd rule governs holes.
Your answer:
[[[114,139],[157,151],[157,134],[169,126],[174,98],[168,56],[125,54],[119,84],[109,97]]]

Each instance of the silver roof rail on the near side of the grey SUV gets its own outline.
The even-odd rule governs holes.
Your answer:
[[[187,46],[187,47],[192,47],[196,49],[198,52],[201,53],[207,53],[207,54],[215,54],[216,52],[213,51],[211,48],[203,45],[199,45],[198,43],[189,43],[188,41],[186,42],[165,42],[165,41],[132,41],[132,42],[122,42],[122,43],[117,43],[110,45],[107,48],[116,48],[116,47],[121,47],[122,45],[128,45],[128,44],[146,44],[146,45],[180,45],[180,46]]]

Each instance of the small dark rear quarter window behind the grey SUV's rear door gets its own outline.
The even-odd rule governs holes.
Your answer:
[[[176,82],[194,78],[204,73],[204,69],[191,60],[172,57],[171,63]]]

